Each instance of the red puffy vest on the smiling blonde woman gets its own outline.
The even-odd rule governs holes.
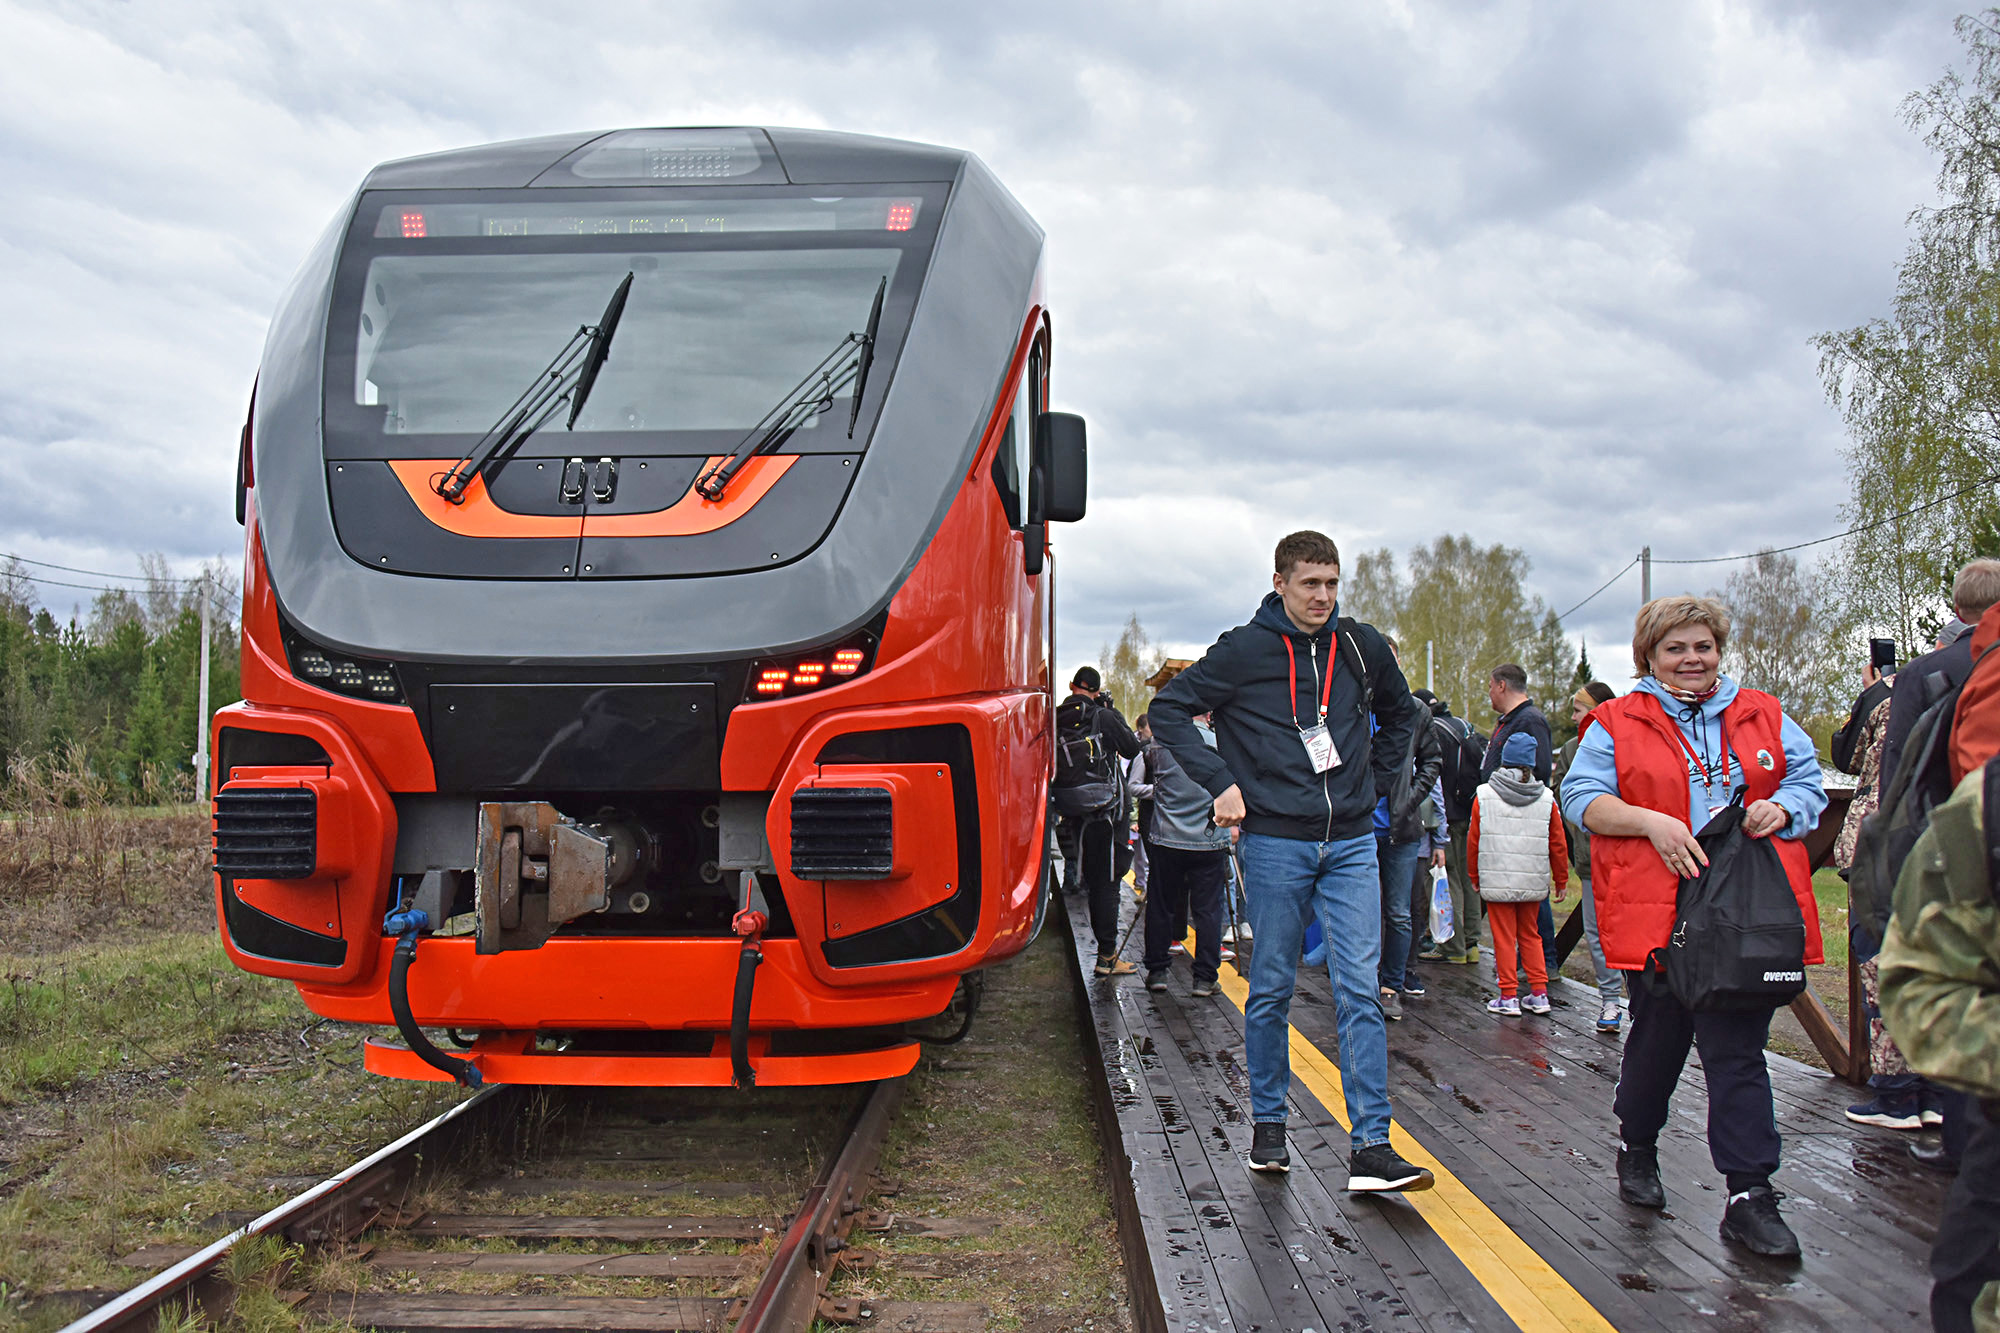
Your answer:
[[[1646,693],[1622,695],[1590,713],[1612,737],[1618,797],[1626,805],[1688,819],[1688,757],[1660,701]],[[1732,779],[1748,783],[1744,805],[1768,801],[1784,781],[1784,709],[1762,691],[1736,691],[1722,711],[1730,739]],[[1700,823],[1706,823],[1702,819]],[[1700,823],[1692,825],[1700,831]],[[1824,963],[1820,905],[1812,897],[1812,861],[1804,843],[1772,835],[1792,895],[1806,919],[1806,963]],[[1680,877],[1666,869],[1650,839],[1590,835],[1590,893],[1596,895],[1598,941],[1604,961],[1634,971],[1646,955],[1664,949],[1674,933],[1674,899]]]

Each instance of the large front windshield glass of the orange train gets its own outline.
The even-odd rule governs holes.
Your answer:
[[[328,454],[426,454],[438,436],[482,434],[580,326],[600,318],[628,272],[616,344],[574,424],[608,436],[592,448],[708,450],[750,430],[842,338],[866,328],[886,280],[854,440],[852,402],[836,400],[788,452],[860,448],[942,208],[934,186],[870,190],[880,192],[364,196],[328,338]],[[566,430],[546,434],[522,454],[582,446]]]

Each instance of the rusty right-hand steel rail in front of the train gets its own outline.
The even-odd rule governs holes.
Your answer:
[[[846,1249],[846,1233],[868,1193],[868,1177],[882,1155],[902,1089],[904,1079],[884,1079],[854,1113],[840,1153],[820,1169],[820,1179],[778,1239],[770,1267],[744,1303],[736,1333],[804,1333],[812,1327],[834,1261]]]

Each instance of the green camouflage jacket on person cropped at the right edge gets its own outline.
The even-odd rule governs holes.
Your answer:
[[[1986,851],[1986,785],[2000,759],[1940,805],[1896,879],[1882,941],[1882,1019],[1910,1069],[2000,1097],[2000,903]]]

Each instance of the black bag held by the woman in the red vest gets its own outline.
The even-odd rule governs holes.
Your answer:
[[[1680,881],[1674,937],[1648,961],[1692,1013],[1778,1009],[1806,989],[1806,919],[1770,837],[1744,833],[1742,801],[1694,835],[1708,865]]]

